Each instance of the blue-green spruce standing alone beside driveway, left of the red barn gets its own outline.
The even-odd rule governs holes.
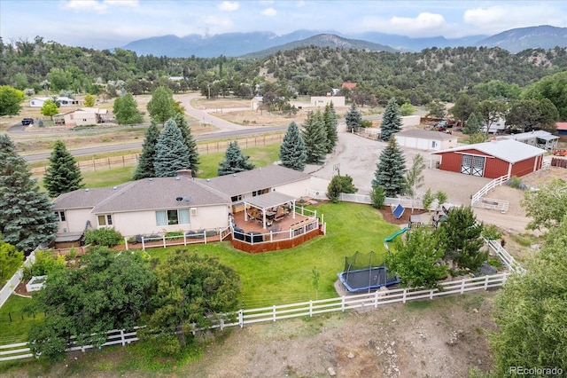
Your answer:
[[[387,197],[395,197],[403,193],[406,188],[406,158],[401,153],[395,138],[390,138],[390,143],[380,154],[380,161],[372,180],[372,187],[380,186],[384,189]]]

